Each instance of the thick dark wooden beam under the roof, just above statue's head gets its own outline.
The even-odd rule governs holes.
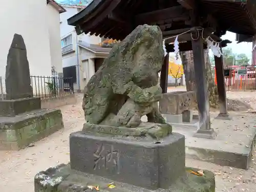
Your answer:
[[[158,22],[159,20],[180,17],[185,13],[186,12],[182,6],[175,6],[166,9],[138,14],[135,16],[135,20],[138,23]]]

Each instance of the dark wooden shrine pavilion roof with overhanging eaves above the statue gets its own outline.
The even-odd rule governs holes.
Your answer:
[[[199,26],[214,26],[217,31],[254,35],[256,5],[248,0],[94,0],[87,8],[68,19],[77,34],[90,33],[123,39],[138,25],[158,25],[164,37],[193,27],[191,12],[201,18]],[[224,34],[223,33],[223,34]]]

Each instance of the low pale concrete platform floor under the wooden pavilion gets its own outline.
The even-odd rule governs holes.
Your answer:
[[[197,129],[173,126],[173,132],[186,138],[186,158],[248,169],[256,143],[255,114],[236,113],[231,113],[232,121],[211,120],[211,126],[218,134],[216,139],[196,138]]]

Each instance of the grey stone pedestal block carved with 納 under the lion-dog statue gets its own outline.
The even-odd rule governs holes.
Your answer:
[[[173,133],[156,142],[80,131],[70,135],[70,164],[138,187],[168,188],[185,173],[185,138]]]

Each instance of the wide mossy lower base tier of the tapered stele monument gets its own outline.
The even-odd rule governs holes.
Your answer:
[[[63,127],[60,110],[40,109],[0,117],[0,150],[20,150]]]

